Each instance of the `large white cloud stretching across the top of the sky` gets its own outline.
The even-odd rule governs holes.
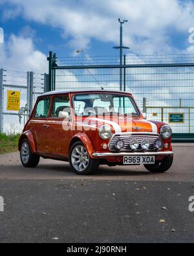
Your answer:
[[[3,0],[0,1],[2,3]],[[37,21],[71,36],[72,47],[85,48],[91,38],[118,43],[118,21],[129,19],[124,27],[124,43],[133,51],[169,52],[170,30],[188,32],[193,26],[194,5],[178,0],[7,0],[11,7],[5,10],[8,18],[22,14],[25,19]]]

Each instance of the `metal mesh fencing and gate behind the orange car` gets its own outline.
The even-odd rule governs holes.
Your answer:
[[[156,63],[146,56],[144,63],[139,64],[139,58],[130,56],[122,66],[116,57],[96,58],[94,65],[89,57],[84,62],[77,58],[75,62],[50,52],[49,75],[0,69],[0,131],[21,132],[36,98],[44,91],[103,87],[133,93],[142,111],[147,112],[147,119],[169,123],[176,141],[194,141],[194,64],[186,62],[185,56],[175,58],[165,56],[162,61],[159,56]],[[191,62],[194,56],[189,58]],[[181,64],[177,63],[180,61]],[[17,111],[8,109],[10,91],[20,93]]]

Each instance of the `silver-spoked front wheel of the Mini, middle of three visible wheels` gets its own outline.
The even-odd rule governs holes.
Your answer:
[[[76,174],[87,175],[98,170],[98,159],[89,157],[87,149],[81,141],[74,143],[69,152],[69,163]]]

